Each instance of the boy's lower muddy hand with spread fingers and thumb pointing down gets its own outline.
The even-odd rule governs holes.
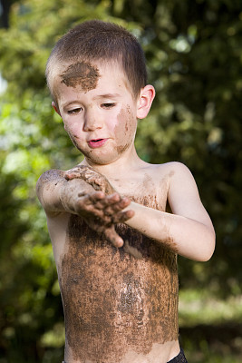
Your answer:
[[[123,240],[115,231],[114,225],[123,223],[134,215],[134,211],[123,211],[130,203],[128,198],[121,198],[118,193],[107,196],[102,191],[96,191],[80,194],[75,211],[92,230],[102,233],[113,246],[121,247]]]

